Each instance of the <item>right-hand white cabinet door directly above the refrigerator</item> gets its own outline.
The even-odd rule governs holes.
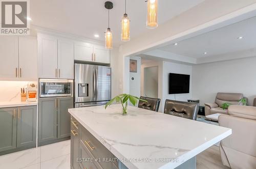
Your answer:
[[[110,63],[110,50],[105,49],[104,46],[93,46],[93,52],[95,54],[94,61],[100,63]]]

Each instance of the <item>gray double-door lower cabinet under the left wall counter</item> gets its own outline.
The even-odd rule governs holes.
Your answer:
[[[36,106],[0,108],[0,155],[36,147]]]

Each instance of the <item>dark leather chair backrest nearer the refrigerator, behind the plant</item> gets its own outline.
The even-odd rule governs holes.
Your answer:
[[[142,96],[140,97],[140,99],[146,100],[147,102],[140,100],[138,105],[139,108],[158,111],[161,99],[142,97]]]

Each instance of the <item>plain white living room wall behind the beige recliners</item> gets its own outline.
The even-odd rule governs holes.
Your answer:
[[[249,105],[256,97],[256,57],[194,65],[192,96],[200,105],[214,102],[218,92],[243,93]]]

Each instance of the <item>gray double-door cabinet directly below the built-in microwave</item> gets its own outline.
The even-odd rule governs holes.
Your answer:
[[[39,98],[38,145],[47,145],[70,138],[70,114],[73,97]]]

